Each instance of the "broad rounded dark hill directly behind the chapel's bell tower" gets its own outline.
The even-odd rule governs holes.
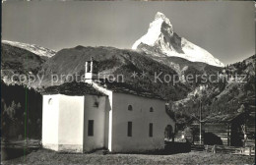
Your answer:
[[[113,47],[83,47],[77,46],[69,49],[62,49],[43,64],[45,74],[42,85],[51,85],[51,74],[58,75],[75,75],[76,73],[82,76],[85,72],[85,63],[93,57],[98,61],[98,71],[100,77],[107,75],[123,75],[123,81],[151,90],[171,100],[178,100],[187,95],[191,90],[183,83],[155,83],[155,73],[162,72],[160,79],[163,80],[163,75],[177,76],[177,73],[171,68],[162,65],[161,63],[147,57],[144,53],[139,53],[133,50],[123,50]],[[56,65],[58,64],[58,65]],[[134,79],[132,74],[138,73],[138,77]],[[142,77],[145,72],[146,76]],[[63,82],[54,83],[60,84],[69,80],[64,79]]]

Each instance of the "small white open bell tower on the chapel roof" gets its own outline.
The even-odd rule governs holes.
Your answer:
[[[97,61],[91,57],[91,60],[86,62],[85,67],[85,83],[93,83],[94,80],[97,80]]]

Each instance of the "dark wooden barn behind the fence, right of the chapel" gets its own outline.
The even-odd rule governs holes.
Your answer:
[[[254,98],[254,97],[253,97]],[[211,115],[202,121],[202,143],[208,145],[255,147],[255,99],[239,102],[243,108],[234,114]],[[200,122],[192,118],[175,138],[200,144]]]

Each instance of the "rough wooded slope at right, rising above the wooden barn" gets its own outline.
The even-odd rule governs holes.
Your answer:
[[[222,71],[227,81],[201,84],[184,99],[172,102],[171,110],[182,123],[199,116],[202,101],[203,118],[209,115],[234,114],[244,111],[243,102],[255,104],[255,62],[256,55],[226,66]],[[235,76],[237,81],[235,81]],[[244,77],[244,79],[243,79]],[[221,78],[219,78],[221,79]]]

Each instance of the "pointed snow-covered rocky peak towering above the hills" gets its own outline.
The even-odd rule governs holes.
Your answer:
[[[159,57],[174,56],[191,62],[203,62],[212,66],[224,67],[224,64],[208,51],[184,37],[178,36],[173,31],[169,19],[160,12],[150,24],[148,32],[133,44],[132,49]]]

